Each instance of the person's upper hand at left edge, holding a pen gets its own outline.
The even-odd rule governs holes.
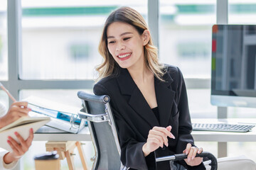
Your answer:
[[[22,116],[28,115],[29,111],[31,111],[31,108],[28,108],[28,102],[26,101],[16,101],[12,103],[6,115],[0,118],[0,128],[13,123]]]

